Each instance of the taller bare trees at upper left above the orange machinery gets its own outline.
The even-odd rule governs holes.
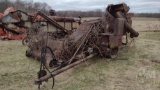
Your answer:
[[[40,2],[33,2],[31,1],[22,1],[22,0],[0,0],[0,12],[3,13],[8,7],[13,7],[15,10],[22,10],[28,13],[35,13],[38,10],[42,11],[43,13],[49,14],[49,10],[51,6],[47,3],[40,3]]]

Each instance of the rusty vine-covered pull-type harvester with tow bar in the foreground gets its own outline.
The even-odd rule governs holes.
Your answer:
[[[122,42],[123,35],[130,33],[131,38],[139,35],[131,27],[129,9],[125,3],[109,5],[102,18],[83,22],[71,34],[55,37],[48,31],[43,33],[41,39],[32,43],[26,51],[26,56],[41,60],[35,83],[40,86],[43,81],[95,55],[114,58],[119,47],[127,44]],[[54,70],[49,71],[47,66]]]

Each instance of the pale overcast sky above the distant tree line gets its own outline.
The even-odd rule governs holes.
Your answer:
[[[160,0],[33,0],[46,2],[55,10],[105,10],[108,4],[125,2],[130,6],[130,12],[160,13]]]

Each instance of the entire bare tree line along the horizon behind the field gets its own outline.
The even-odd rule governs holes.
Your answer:
[[[33,2],[33,0],[0,0],[0,12],[3,13],[8,7],[14,7],[15,10],[22,10],[27,13],[35,13],[38,10],[49,15],[52,10],[47,3]],[[53,10],[54,11],[54,10]],[[104,11],[101,9],[92,11],[55,11],[57,16],[62,17],[101,17]],[[135,13],[136,17],[157,17],[160,18],[160,13]]]

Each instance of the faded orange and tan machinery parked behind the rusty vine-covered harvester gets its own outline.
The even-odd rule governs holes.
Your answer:
[[[6,9],[0,16],[0,20],[0,36],[13,40],[23,38],[23,45],[36,40],[40,30],[52,33],[56,31],[54,34],[60,36],[76,30],[81,23],[81,18],[46,16],[40,11],[36,14],[28,14],[21,10],[15,11],[12,7]]]

